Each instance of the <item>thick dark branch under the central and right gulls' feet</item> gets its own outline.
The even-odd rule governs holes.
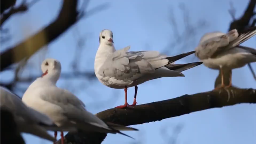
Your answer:
[[[256,103],[256,90],[229,88],[193,95],[186,94],[177,98],[126,109],[111,108],[97,113],[97,116],[104,121],[116,124],[138,125],[238,103]],[[65,136],[68,144],[101,144],[105,137],[106,134],[100,133],[68,133]]]

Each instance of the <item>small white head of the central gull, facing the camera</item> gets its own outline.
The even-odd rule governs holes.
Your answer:
[[[99,34],[99,43],[112,46],[113,41],[113,33],[109,29],[104,29]]]

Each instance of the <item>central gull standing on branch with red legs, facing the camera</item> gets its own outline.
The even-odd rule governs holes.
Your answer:
[[[157,51],[130,51],[130,46],[116,50],[113,33],[104,29],[99,34],[99,48],[94,61],[94,72],[98,80],[114,89],[124,89],[125,103],[116,108],[136,105],[138,85],[160,77],[185,77],[181,72],[201,65],[193,62],[174,65],[176,60],[195,53],[191,51],[173,57],[162,55]],[[127,103],[127,88],[135,87],[133,104]]]

